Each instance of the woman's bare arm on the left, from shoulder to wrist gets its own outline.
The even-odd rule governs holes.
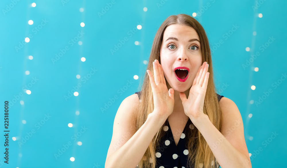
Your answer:
[[[137,94],[135,95],[137,97]],[[134,108],[131,109],[130,106],[135,102],[128,101],[129,99],[135,99],[134,95],[127,97],[126,101],[124,100],[121,103],[115,117],[113,137],[108,150],[105,168],[135,168],[144,156],[152,138],[167,119],[167,117],[160,117],[152,112],[148,115],[146,122],[141,128],[137,132],[131,133],[129,131],[133,120],[131,113],[134,113]],[[138,98],[137,101],[139,101]],[[120,137],[127,138],[120,139]],[[117,142],[121,142],[121,144],[118,145]],[[118,146],[118,148],[115,149],[114,146]]]

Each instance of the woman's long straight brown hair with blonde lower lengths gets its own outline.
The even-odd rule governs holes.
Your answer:
[[[157,59],[160,63],[160,46],[162,43],[164,30],[166,29],[167,26],[173,24],[192,27],[195,29],[195,31],[199,36],[202,61],[208,62],[209,64],[208,72],[210,72],[208,79],[208,87],[204,99],[203,112],[204,114],[208,115],[212,124],[220,131],[222,125],[221,121],[222,117],[221,117],[221,109],[216,95],[216,88],[214,86],[210,46],[203,27],[201,26],[201,24],[199,24],[199,22],[196,19],[186,14],[171,15],[168,18],[166,18],[166,20],[162,23],[162,25],[160,26],[154,37],[147,69],[150,70],[154,75],[152,62],[155,59]],[[144,122],[148,117],[148,114],[153,112],[153,108],[154,108],[154,102],[153,102],[150,79],[148,74],[145,73],[144,81],[141,87],[140,103],[137,106],[136,111],[137,112],[135,120],[136,130],[139,130],[139,128],[144,124]],[[159,141],[162,139],[164,135],[163,126],[158,130],[158,132],[155,134],[154,138],[150,142],[148,149],[146,150],[143,158],[138,164],[139,168],[156,167],[155,153],[157,152],[156,150],[159,148]],[[204,137],[201,135],[199,130],[196,127],[194,127],[194,129],[190,129],[187,132],[189,132],[186,136],[188,142],[187,149],[189,151],[188,167],[190,167],[190,165],[192,164],[195,164],[195,168],[218,167],[218,162],[216,161],[210,147],[208,146],[207,142],[205,141]]]

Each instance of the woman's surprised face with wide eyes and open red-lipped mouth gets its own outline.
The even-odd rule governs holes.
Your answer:
[[[168,89],[171,87],[175,91],[184,92],[191,87],[202,65],[199,36],[193,28],[176,24],[165,29],[162,40],[160,64],[167,81],[166,85]],[[175,71],[177,67],[189,69],[187,77],[186,71]],[[181,80],[182,78],[185,79]]]

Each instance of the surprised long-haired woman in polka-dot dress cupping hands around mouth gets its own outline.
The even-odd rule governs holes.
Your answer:
[[[189,15],[158,29],[140,92],[114,120],[105,168],[251,168],[236,104],[216,93],[208,38]]]

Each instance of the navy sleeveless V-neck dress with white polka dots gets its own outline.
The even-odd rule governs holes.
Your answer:
[[[138,96],[140,92],[136,92]],[[217,94],[217,93],[216,93]],[[218,101],[224,97],[217,94]],[[157,149],[156,153],[156,168],[187,168],[188,150],[186,145],[185,135],[187,130],[194,129],[195,126],[192,124],[191,120],[187,121],[181,137],[177,145],[175,145],[174,138],[168,123],[166,120],[163,130],[166,134],[160,141],[160,147]],[[218,164],[218,163],[217,163]],[[217,167],[220,165],[218,164]],[[194,168],[194,163],[191,168]]]

